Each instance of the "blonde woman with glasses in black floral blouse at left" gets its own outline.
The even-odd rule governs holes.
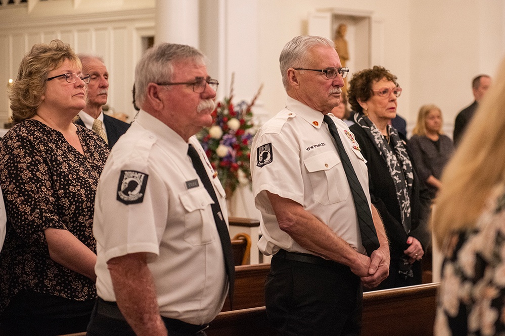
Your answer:
[[[0,140],[7,235],[0,252],[0,334],[86,330],[96,299],[93,213],[107,144],[76,126],[89,75],[68,44],[35,44],[10,91]]]

